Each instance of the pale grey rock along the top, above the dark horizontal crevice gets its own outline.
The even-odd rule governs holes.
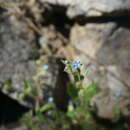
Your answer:
[[[102,16],[106,14],[126,15],[130,11],[130,0],[41,0],[67,7],[70,18],[76,16]],[[128,13],[127,13],[128,14]]]

